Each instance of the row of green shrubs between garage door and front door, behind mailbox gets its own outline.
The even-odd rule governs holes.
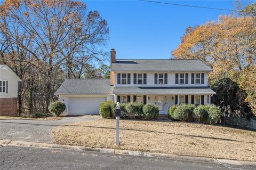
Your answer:
[[[99,112],[103,118],[112,118],[115,116],[116,105],[113,101],[105,101],[100,103]],[[154,104],[143,105],[140,102],[121,103],[120,104],[121,117],[139,118],[141,119],[157,119],[159,110]]]

